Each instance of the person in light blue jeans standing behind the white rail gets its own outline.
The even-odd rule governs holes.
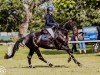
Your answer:
[[[84,40],[84,33],[80,32],[78,35],[78,40],[79,41],[83,41]],[[85,42],[80,42],[79,43],[79,52],[82,53],[82,51],[84,51],[84,53],[86,53],[86,45]]]

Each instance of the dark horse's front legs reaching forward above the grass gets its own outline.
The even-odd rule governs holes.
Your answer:
[[[78,66],[82,66],[80,62],[78,62],[75,57],[73,56],[73,53],[71,52],[71,50],[69,49],[68,46],[62,46],[64,48],[64,50],[69,54],[69,59],[68,62],[71,61],[71,59],[73,59],[74,63],[77,64]]]

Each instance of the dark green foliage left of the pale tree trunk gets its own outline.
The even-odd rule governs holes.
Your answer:
[[[25,16],[21,1],[2,0],[0,3],[0,31],[17,31]]]

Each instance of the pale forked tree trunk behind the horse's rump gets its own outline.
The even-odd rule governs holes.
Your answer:
[[[25,36],[27,33],[28,27],[29,27],[29,22],[32,19],[32,10],[34,10],[35,7],[43,4],[44,2],[49,1],[49,0],[22,0],[22,4],[24,7],[24,11],[26,13],[25,19],[23,23],[20,26],[19,32],[21,34],[21,37]]]

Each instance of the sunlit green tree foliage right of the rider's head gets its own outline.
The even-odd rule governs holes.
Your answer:
[[[59,22],[75,18],[81,26],[100,24],[99,0],[54,0]]]

